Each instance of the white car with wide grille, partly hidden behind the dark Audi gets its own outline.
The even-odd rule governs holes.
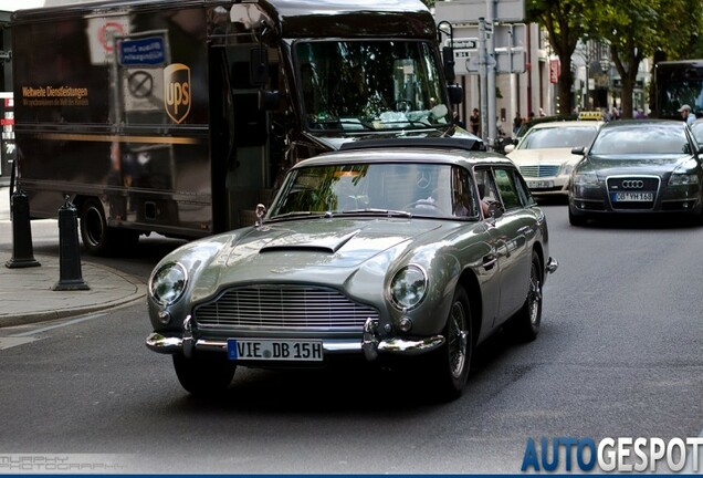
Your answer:
[[[600,121],[565,121],[534,125],[517,143],[505,147],[534,195],[568,196],[569,176],[581,156],[575,147],[587,147],[604,124]]]

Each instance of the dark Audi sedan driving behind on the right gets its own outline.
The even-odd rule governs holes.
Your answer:
[[[569,183],[569,222],[625,214],[703,217],[699,143],[681,121],[622,119],[604,125]]]

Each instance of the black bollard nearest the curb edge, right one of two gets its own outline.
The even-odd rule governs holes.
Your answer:
[[[59,208],[59,270],[60,279],[52,290],[88,290],[81,273],[81,250],[78,245],[78,220],[75,207],[66,196]]]

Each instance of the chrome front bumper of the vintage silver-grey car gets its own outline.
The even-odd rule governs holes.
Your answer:
[[[153,332],[146,339],[146,346],[154,352],[164,354],[182,353],[186,356],[191,356],[193,349],[227,353],[227,339],[195,339],[189,318],[186,319],[183,329],[182,335],[162,335],[158,332]],[[364,353],[367,361],[374,361],[379,353],[419,355],[439,349],[444,343],[442,335],[419,340],[398,337],[379,340],[377,330],[378,323],[369,319],[364,325],[364,337],[360,342],[358,340],[323,340],[323,351],[325,354]]]

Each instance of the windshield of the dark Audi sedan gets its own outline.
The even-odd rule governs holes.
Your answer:
[[[691,154],[681,125],[639,125],[604,128],[594,142],[594,155]]]

